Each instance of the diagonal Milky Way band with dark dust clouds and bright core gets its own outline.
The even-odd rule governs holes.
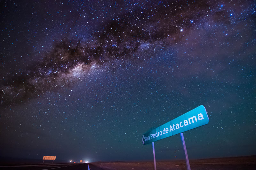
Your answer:
[[[186,6],[186,10],[179,10],[182,6]],[[207,2],[155,5],[143,12],[127,12],[107,20],[87,41],[63,37],[41,56],[43,60],[21,75],[4,76],[0,86],[1,105],[20,103],[46,91],[72,86],[93,68],[111,70],[121,63],[150,58],[157,49],[181,45],[184,37],[196,32],[198,26],[229,25],[230,14],[218,8],[212,10]]]

